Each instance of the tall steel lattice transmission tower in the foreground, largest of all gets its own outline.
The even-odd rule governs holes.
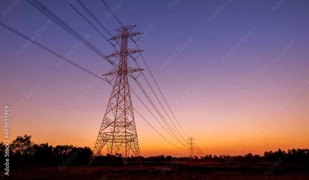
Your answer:
[[[127,66],[127,55],[136,52],[142,52],[142,50],[127,48],[129,37],[142,34],[142,32],[131,31],[134,27],[135,26],[126,26],[118,28],[115,31],[118,31],[119,33],[109,39],[118,41],[121,40],[120,50],[107,56],[119,56],[119,66],[118,68],[115,68],[103,75],[116,75],[117,77],[115,85],[113,86],[112,94],[109,98],[108,106],[97,141],[95,143],[90,163],[95,159],[96,156],[100,155],[100,152],[105,144],[107,144],[107,150],[110,154],[109,161],[112,161],[116,155],[119,155],[122,157],[125,164],[127,164],[129,151],[131,149],[133,154],[141,163],[127,78],[128,73],[144,70]],[[110,119],[108,117],[113,118]]]

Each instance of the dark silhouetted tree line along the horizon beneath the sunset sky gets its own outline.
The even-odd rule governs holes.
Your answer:
[[[5,154],[5,144],[3,142],[0,143],[0,156],[4,159]],[[57,145],[52,146],[45,144],[36,144],[31,141],[31,136],[17,136],[15,140],[10,143],[10,162],[12,164],[18,164],[23,162],[28,163],[48,163],[48,164],[63,164],[63,165],[79,165],[79,164],[88,164],[91,158],[92,150],[89,147],[76,147],[73,145]],[[122,155],[116,154],[114,155],[113,162],[123,162]],[[100,155],[96,157],[95,161],[97,162],[107,162],[111,158],[110,154]],[[172,156],[150,156],[150,157],[142,157],[142,161],[172,161],[172,159],[176,159],[176,157]],[[278,151],[265,151],[264,156],[252,155],[252,153],[248,153],[244,156],[236,155],[211,155],[206,154],[204,157],[177,157],[177,161],[217,161],[217,162],[276,162],[278,160],[282,160],[283,163],[309,163],[309,149],[288,149],[288,152]],[[94,162],[95,162],[94,161]],[[131,157],[128,158],[129,162],[136,162],[137,158]]]

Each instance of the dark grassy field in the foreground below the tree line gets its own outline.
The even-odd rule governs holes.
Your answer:
[[[144,162],[142,165],[82,165],[67,166],[62,171],[57,165],[19,165],[11,167],[9,179],[309,179],[309,165],[280,164],[273,173],[264,175],[272,163],[224,162]],[[164,172],[164,174],[163,174]],[[4,179],[8,179],[5,177]]]

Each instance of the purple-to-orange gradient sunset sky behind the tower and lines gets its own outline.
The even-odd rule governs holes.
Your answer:
[[[114,52],[112,46],[65,1],[40,2],[79,34],[89,33],[89,42],[104,54]],[[114,30],[120,25],[113,17],[106,18],[105,13],[109,11],[101,1],[82,2],[116,35]],[[106,2],[111,8],[119,3],[118,0]],[[115,11],[124,25],[135,24],[137,29],[134,31],[145,32],[148,24],[153,25],[142,40],[138,40],[138,46],[144,50],[145,60],[169,105],[176,106],[182,96],[187,93],[190,95],[176,109],[175,115],[183,130],[196,139],[195,142],[204,154],[231,154],[240,145],[244,148],[239,155],[263,155],[265,151],[276,151],[279,148],[285,151],[308,148],[309,86],[299,87],[304,80],[309,79],[308,1],[287,0],[280,7],[277,5],[274,11],[272,6],[276,6],[275,0],[181,0],[171,8],[169,3],[173,3],[172,0],[124,2]],[[10,0],[2,0],[1,11],[6,10],[11,3]],[[210,22],[208,16],[212,16],[213,11],[218,10],[217,6],[223,3],[227,6]],[[95,24],[77,2],[73,4]],[[28,37],[35,36],[37,42],[63,56],[74,49],[75,53],[69,59],[93,73],[106,73],[113,69],[85,45],[76,50],[74,44],[78,40],[54,22],[36,37],[37,29],[49,20],[27,1],[19,2],[6,15],[3,11],[0,14],[2,23]],[[103,29],[97,24],[95,26],[107,36]],[[250,33],[251,27],[256,30],[253,34],[247,34],[250,37],[244,42],[240,37]],[[3,27],[0,27],[0,34],[0,107],[4,114],[5,105],[13,108],[20,100],[25,102],[10,117],[10,139],[27,134],[32,135],[32,140],[36,139],[38,143],[48,142],[54,146],[87,145],[93,149],[112,87],[100,81],[90,90],[87,85],[95,77],[67,62],[57,69],[55,63],[59,63],[60,59],[35,44],[31,44],[18,56],[16,50],[20,50],[25,40]],[[177,47],[185,43],[188,37],[193,38],[192,42],[182,52],[178,51]],[[294,40],[294,44],[290,40]],[[132,41],[129,40],[129,43]],[[222,56],[226,56],[226,51],[237,43],[240,47],[223,62]],[[293,47],[288,47],[289,50],[283,55],[280,50],[289,43]],[[177,57],[166,67],[163,66],[163,62],[173,53]],[[262,74],[261,69],[265,69],[265,64],[269,64],[270,59],[276,56],[280,60]],[[141,68],[146,69],[141,57],[137,61]],[[128,64],[136,67],[131,58],[128,58]],[[148,70],[144,73],[159,95]],[[193,85],[204,76],[208,79],[193,92]],[[142,76],[138,79],[159,108],[145,80]],[[34,88],[35,83],[41,86],[28,98],[26,93]],[[133,89],[138,89],[131,78],[129,83]],[[302,89],[297,95],[296,88]],[[88,90],[88,94],[71,109],[69,103],[73,103],[73,98],[77,98],[78,93],[84,90]],[[232,103],[232,98],[238,98],[236,96],[240,90],[247,92]],[[145,96],[142,93],[139,96],[150,108]],[[274,109],[278,109],[279,104],[285,105],[284,99],[289,96],[293,99],[276,114]],[[160,101],[164,102],[162,97]],[[164,131],[137,98],[132,98],[132,104],[165,138],[183,148]],[[230,107],[226,114],[212,123],[211,119],[215,119],[226,106]],[[153,108],[150,109],[154,112]],[[169,115],[172,117],[171,113]],[[151,133],[151,127],[137,113],[134,112],[134,116],[142,156],[184,155],[158,133]],[[156,117],[159,118],[158,115]],[[176,124],[175,119],[172,120]],[[48,128],[49,123],[55,126],[50,131],[45,130],[45,136],[38,135]],[[259,133],[255,134],[255,130]],[[251,138],[250,142],[246,138]],[[106,147],[103,153],[107,153]],[[185,156],[188,155],[186,151]]]

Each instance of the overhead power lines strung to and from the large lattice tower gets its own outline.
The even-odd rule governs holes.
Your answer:
[[[55,23],[57,23],[60,27],[62,27],[64,30],[66,30],[68,33],[70,33],[73,37],[75,37],[77,40],[81,41],[83,44],[85,44],[88,48],[90,48],[93,52],[95,52],[96,54],[98,54],[100,57],[102,57],[104,60],[106,60],[108,63],[110,63],[114,68],[118,67],[118,65],[115,63],[115,61],[112,61],[111,59],[109,59],[108,57],[106,57],[106,55],[101,52],[98,48],[96,48],[94,45],[92,45],[90,42],[88,42],[87,40],[85,40],[80,34],[78,34],[76,31],[74,31],[73,28],[71,28],[68,24],[66,24],[63,20],[61,20],[57,15],[55,15],[53,12],[51,12],[48,8],[46,8],[42,3],[38,2],[37,0],[27,0],[27,2],[29,2],[32,6],[34,6],[37,10],[39,10],[41,13],[43,13],[44,15],[46,15],[47,17],[49,17],[50,19],[52,19]],[[99,31],[71,2],[69,2],[68,0],[66,0],[66,2],[91,26],[95,29],[95,31],[97,31],[105,40],[107,40],[108,38],[106,38],[101,31]],[[104,27],[104,25],[91,13],[91,11],[80,1],[77,0],[77,2],[80,4],[80,6],[83,7],[83,9],[104,29],[104,31],[106,31],[106,33],[108,33],[108,35],[110,37],[113,37],[112,34],[107,30],[107,28]],[[108,4],[102,0],[102,2],[104,3],[104,5],[108,8],[108,10],[111,10],[111,8],[108,6]],[[121,27],[123,27],[123,24],[120,22],[120,20],[116,17],[116,15],[112,12],[112,15],[115,17],[115,19],[118,21],[118,23],[121,25]],[[6,24],[0,22],[0,25],[5,27],[6,29],[14,32],[15,34],[23,37],[26,40],[31,41],[32,43],[38,45],[39,47],[45,49],[48,52],[51,52],[52,54],[56,55],[57,57],[63,59],[64,61],[69,62],[70,64],[86,71],[87,73],[90,73],[91,75],[100,78],[101,80],[108,82],[111,86],[113,86],[111,84],[111,82],[107,81],[106,79],[96,75],[95,73],[92,73],[91,71],[81,67],[80,65],[68,60],[67,58],[59,55],[58,53],[50,50],[49,48],[46,48],[44,45],[37,43],[36,41],[32,40],[31,38],[23,35],[22,33],[20,33],[19,31],[16,31],[15,29],[7,26]],[[134,40],[133,40],[134,41]],[[138,48],[138,45],[136,43],[136,41],[134,41],[136,47]],[[111,43],[112,44],[112,43]],[[119,42],[116,42],[115,45],[119,44]],[[116,49],[115,45],[112,44],[112,46]],[[117,49],[116,49],[117,51]],[[140,52],[140,56],[142,57],[152,79],[154,80],[161,96],[164,99],[164,102],[166,103],[169,111],[171,112],[171,114],[173,115],[174,119],[176,120],[178,126],[180,127],[180,129],[182,130],[182,132],[184,133],[185,136],[186,133],[184,132],[184,130],[182,129],[182,127],[180,126],[178,120],[176,119],[174,113],[172,112],[170,106],[168,105],[166,98],[164,97],[162,91],[160,90],[158,83],[155,80],[155,77],[153,76],[153,74],[150,71],[149,66],[146,63],[145,58],[143,57],[142,53]],[[133,57],[132,57],[133,58]],[[134,58],[133,58],[134,59]],[[138,66],[138,68],[140,68],[138,61],[136,61],[137,58],[134,59],[134,62],[136,63],[136,65]],[[173,123],[173,121],[171,120],[170,116],[168,115],[167,111],[165,110],[165,108],[163,107],[162,103],[160,102],[157,94],[155,93],[155,91],[153,90],[152,86],[150,85],[148,79],[146,78],[145,74],[142,72],[142,76],[144,77],[144,79],[146,80],[148,86],[150,87],[152,93],[155,95],[155,98],[157,99],[157,101],[159,102],[160,106],[162,107],[163,111],[165,112],[165,114],[167,115],[168,119],[170,120],[170,122],[172,123],[172,125],[164,118],[164,116],[162,115],[162,113],[159,111],[159,109],[157,108],[157,106],[155,105],[155,103],[151,100],[151,98],[149,97],[149,95],[147,94],[147,92],[144,90],[144,88],[142,87],[142,85],[139,83],[138,79],[134,76],[134,75],[129,75],[130,77],[133,78],[133,80],[137,83],[138,87],[142,90],[143,94],[145,95],[145,97],[147,98],[147,100],[149,101],[149,103],[151,104],[151,106],[154,108],[154,110],[156,111],[156,113],[159,115],[159,117],[161,118],[161,120],[163,121],[163,123],[167,126],[167,128],[169,129],[169,131],[162,125],[162,123],[160,123],[160,121],[155,117],[155,115],[150,111],[150,109],[145,105],[145,103],[141,100],[141,98],[138,96],[138,94],[136,94],[133,89],[130,87],[130,90],[132,90],[132,92],[137,96],[137,98],[139,99],[139,101],[141,101],[141,103],[144,105],[144,107],[150,112],[150,114],[155,118],[155,120],[164,128],[164,130],[171,136],[173,137],[177,142],[179,142],[180,144],[182,144],[185,148],[186,147],[186,143],[183,144],[181,142],[181,140],[185,140],[184,136],[180,133],[180,131],[178,130],[178,128],[175,126],[175,124]],[[148,123],[156,132],[158,132],[135,108],[133,108],[134,111],[136,111],[136,113],[138,113],[138,115],[140,115],[142,117],[143,120],[146,121],[146,123]],[[176,130],[175,130],[175,129]],[[165,140],[167,140],[162,134],[160,134],[158,132],[158,134],[160,136],[162,136]],[[178,137],[181,139],[179,139]],[[187,136],[188,137],[188,136]],[[167,142],[169,142],[170,144],[172,144],[173,146],[175,146],[176,148],[180,149],[179,147],[177,147],[176,145],[174,145],[173,143],[171,143],[169,140],[167,140]]]

